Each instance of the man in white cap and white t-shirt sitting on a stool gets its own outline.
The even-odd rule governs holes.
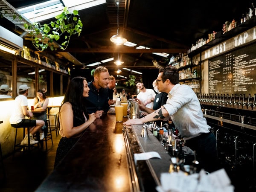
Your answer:
[[[11,123],[12,127],[14,128],[22,128],[22,127],[29,127],[29,136],[26,134],[23,141],[20,143],[21,145],[28,145],[28,141],[30,140],[30,144],[38,143],[33,139],[33,135],[36,132],[40,132],[43,134],[41,130],[44,127],[43,120],[36,120],[36,119],[26,119],[27,117],[33,117],[33,113],[28,111],[28,87],[26,84],[22,84],[19,87],[19,95],[15,98],[13,111],[9,122]],[[43,140],[44,138],[41,137],[40,139]]]

